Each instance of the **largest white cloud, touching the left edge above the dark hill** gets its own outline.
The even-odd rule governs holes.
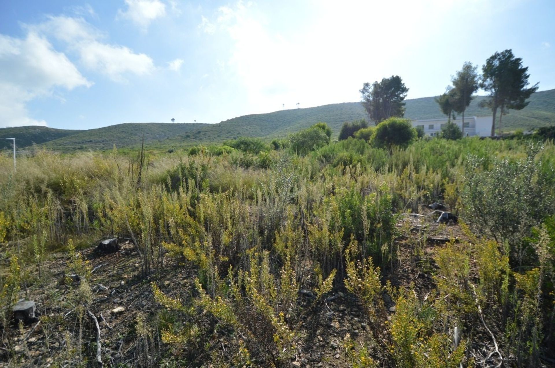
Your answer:
[[[55,95],[57,88],[91,85],[46,38],[34,32],[25,39],[0,34],[0,126],[46,125],[27,116],[28,101]]]

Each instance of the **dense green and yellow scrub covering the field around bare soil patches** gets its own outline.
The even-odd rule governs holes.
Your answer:
[[[14,340],[24,328],[9,308],[47,288],[59,269],[46,265],[64,252],[64,274],[80,282],[47,288],[37,330],[52,364],[95,363],[87,311],[103,302],[79,250],[118,236],[137,252],[129,282],[157,306],[133,311],[118,338],[133,349],[102,350],[106,365],[290,366],[304,351],[302,321],[339,292],[367,324],[364,339],[337,347],[346,365],[552,364],[553,144],[411,132],[406,148],[382,149],[329,143],[326,127],[272,149],[243,139],[190,155],[37,150],[16,174],[1,156],[0,359],[40,365]],[[402,219],[434,201],[458,214],[463,236],[425,252],[425,227],[411,232]],[[392,277],[405,267],[428,275],[426,287]]]

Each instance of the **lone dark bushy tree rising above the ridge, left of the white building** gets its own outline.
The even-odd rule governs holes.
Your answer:
[[[405,115],[405,97],[408,88],[398,75],[384,78],[380,83],[365,83],[360,90],[362,106],[368,114],[368,120],[379,124],[391,116]]]

